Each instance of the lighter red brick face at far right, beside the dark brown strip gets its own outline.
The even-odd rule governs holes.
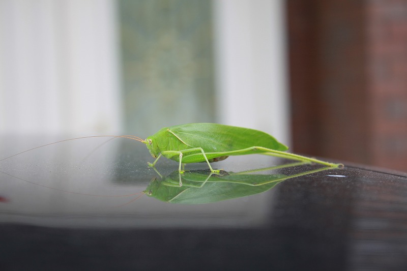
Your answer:
[[[372,159],[407,171],[407,1],[371,1],[366,13]]]

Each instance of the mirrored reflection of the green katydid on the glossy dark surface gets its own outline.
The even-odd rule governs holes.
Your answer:
[[[330,169],[330,166],[312,168],[291,175],[255,174],[283,168],[293,169],[307,162],[295,162],[268,168],[258,168],[241,172],[219,173],[206,170],[192,170],[180,173],[178,170],[161,177],[154,178],[144,190],[144,194],[161,201],[181,204],[202,204],[233,198],[251,196],[266,192],[289,178],[300,177]],[[253,174],[254,173],[254,174]]]

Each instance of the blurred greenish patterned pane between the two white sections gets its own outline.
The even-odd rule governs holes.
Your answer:
[[[120,1],[125,132],[215,121],[211,1]]]

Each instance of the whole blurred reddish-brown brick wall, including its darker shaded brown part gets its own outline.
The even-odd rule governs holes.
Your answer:
[[[287,14],[295,152],[407,171],[407,1]]]

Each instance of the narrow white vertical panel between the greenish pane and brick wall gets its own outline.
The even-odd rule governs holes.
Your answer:
[[[284,0],[215,0],[219,122],[289,143]]]

